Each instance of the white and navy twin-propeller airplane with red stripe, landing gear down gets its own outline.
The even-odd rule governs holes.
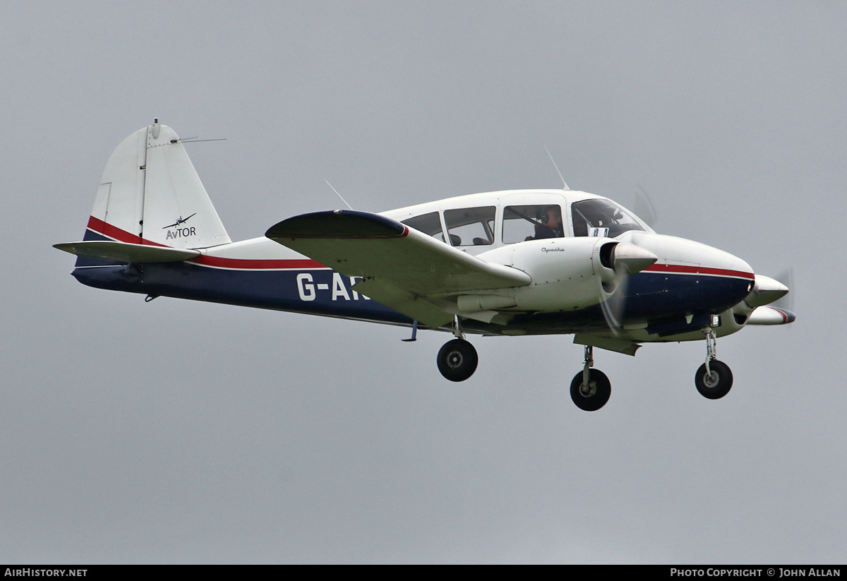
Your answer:
[[[307,213],[232,242],[180,138],[156,119],[109,158],[77,256],[84,285],[296,313],[406,325],[455,335],[440,373],[468,379],[467,335],[574,334],[584,368],[573,402],[594,411],[609,379],[593,348],[634,355],[642,343],[705,340],[703,396],[733,377],[717,337],[786,324],[767,305],[789,289],[728,252],[659,235],[603,196],[512,190],[384,213]]]

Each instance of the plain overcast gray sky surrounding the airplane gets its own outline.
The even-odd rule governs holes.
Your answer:
[[[844,3],[6,3],[5,562],[844,562]],[[596,351],[95,290],[113,148],[158,117],[233,240],[297,213],[557,187],[756,272],[789,327]]]

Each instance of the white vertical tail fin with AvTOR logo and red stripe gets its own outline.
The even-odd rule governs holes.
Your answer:
[[[230,242],[180,137],[167,125],[148,125],[121,141],[100,182],[86,241],[174,248]]]

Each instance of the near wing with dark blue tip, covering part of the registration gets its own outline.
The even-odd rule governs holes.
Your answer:
[[[451,292],[529,285],[522,270],[486,263],[385,216],[355,210],[307,213],[265,235],[347,276],[357,290],[420,322],[438,327],[453,315],[439,306]]]

